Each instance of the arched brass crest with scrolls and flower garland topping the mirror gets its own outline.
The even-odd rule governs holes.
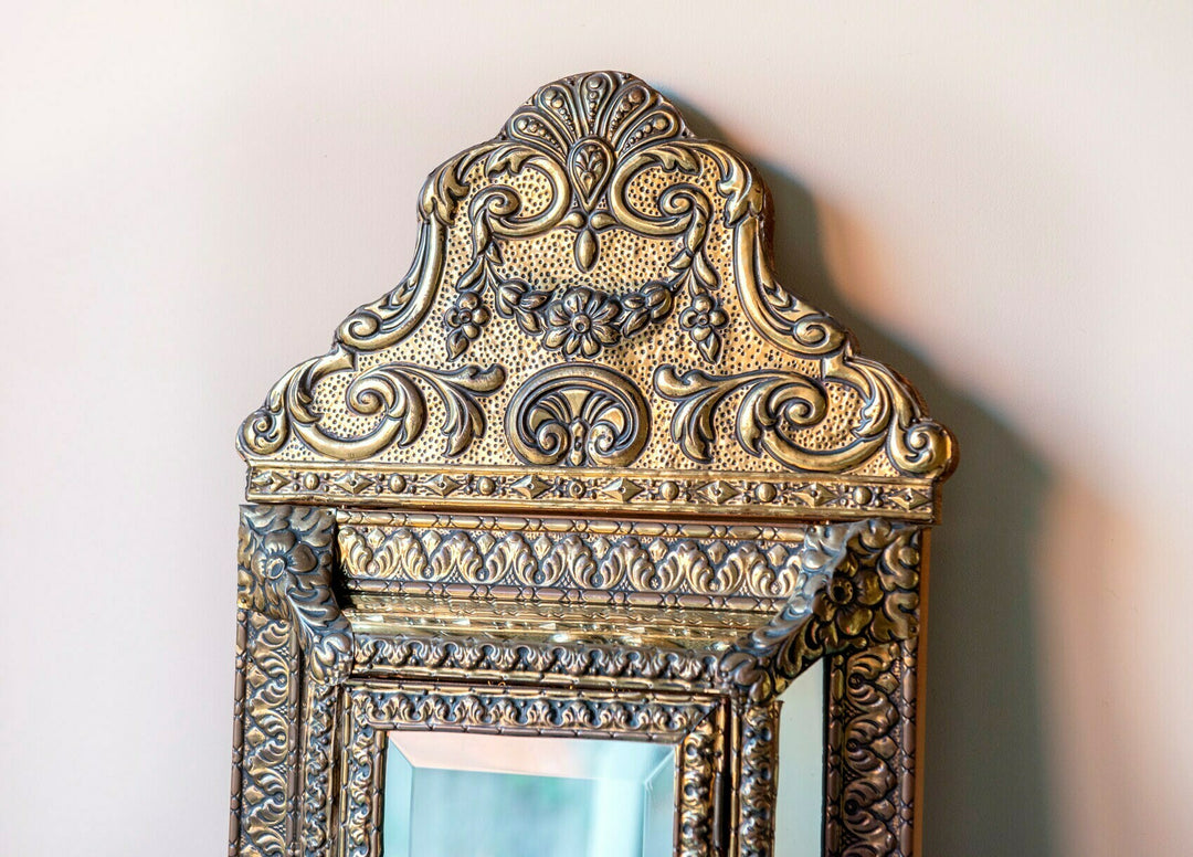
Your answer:
[[[774,280],[766,193],[632,75],[543,87],[246,420],[249,499],[932,520],[952,439]]]

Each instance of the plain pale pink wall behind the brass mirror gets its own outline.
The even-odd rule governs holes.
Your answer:
[[[233,430],[593,68],[762,166],[780,273],[960,436],[929,857],[1187,850],[1193,13],[1051,6],[7,8],[0,851],[224,847]]]

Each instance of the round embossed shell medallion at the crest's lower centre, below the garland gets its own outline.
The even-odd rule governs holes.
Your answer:
[[[625,375],[587,364],[531,375],[506,410],[506,437],[531,465],[624,467],[647,445],[650,410]]]

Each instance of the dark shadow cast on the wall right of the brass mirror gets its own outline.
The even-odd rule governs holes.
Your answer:
[[[697,136],[734,145],[670,98]],[[779,281],[853,330],[861,353],[911,379],[962,451],[945,486],[945,523],[932,536],[923,855],[1052,855],[1033,584],[1049,473],[996,416],[845,304],[812,193],[781,168],[754,163],[774,200]]]

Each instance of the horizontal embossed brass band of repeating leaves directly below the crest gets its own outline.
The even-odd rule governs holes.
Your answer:
[[[801,573],[798,530],[759,538],[760,528],[725,529],[721,535],[731,538],[710,538],[701,528],[610,527],[592,520],[568,527],[520,517],[350,518],[339,530],[348,591],[381,586],[426,594],[468,584],[484,586],[486,597],[502,597],[496,590],[512,589],[525,602],[546,588],[604,603],[629,598],[696,607],[731,603],[736,609],[767,611],[797,590]]]

